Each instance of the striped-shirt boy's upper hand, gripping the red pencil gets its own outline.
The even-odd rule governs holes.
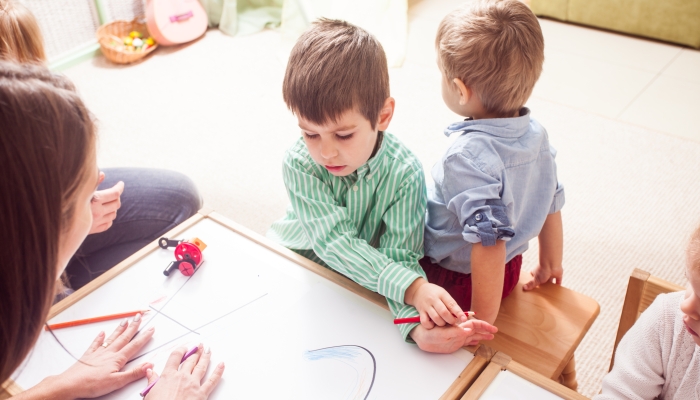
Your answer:
[[[435,325],[455,325],[467,320],[462,308],[449,293],[423,278],[416,279],[406,290],[406,304],[414,306],[420,313],[420,322],[425,329]]]

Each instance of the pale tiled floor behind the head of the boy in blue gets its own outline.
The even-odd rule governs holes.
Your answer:
[[[437,26],[460,4],[411,2],[407,64],[434,67]],[[534,98],[700,141],[700,51],[549,19],[540,24],[546,59]]]

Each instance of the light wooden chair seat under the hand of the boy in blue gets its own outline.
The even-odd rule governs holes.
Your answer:
[[[518,285],[501,302],[494,323],[498,333],[486,344],[576,390],[574,350],[598,317],[600,306],[588,296],[551,283],[525,292],[522,286],[529,279],[530,273],[522,271]]]

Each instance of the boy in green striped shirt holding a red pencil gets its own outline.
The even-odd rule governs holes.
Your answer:
[[[385,132],[394,113],[379,42],[343,21],[313,24],[289,57],[283,84],[302,131],[284,159],[291,200],[268,237],[386,297],[404,339],[453,352],[496,328],[467,320],[428,283],[423,256],[426,191],[418,159]]]

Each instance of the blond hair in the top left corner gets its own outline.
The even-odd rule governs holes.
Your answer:
[[[46,61],[39,24],[23,5],[0,0],[0,59],[19,63]]]

